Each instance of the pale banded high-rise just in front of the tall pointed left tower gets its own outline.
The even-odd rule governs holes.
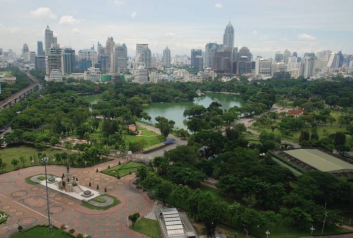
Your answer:
[[[64,63],[62,50],[59,44],[52,44],[45,61],[45,80],[46,81],[62,81],[64,72]],[[59,77],[61,74],[61,78]]]

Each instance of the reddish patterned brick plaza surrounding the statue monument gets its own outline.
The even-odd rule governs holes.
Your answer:
[[[121,163],[125,162],[120,160]],[[149,213],[153,207],[146,194],[141,194],[133,188],[134,174],[121,179],[96,173],[118,165],[119,160],[114,160],[92,166],[89,168],[71,168],[70,172],[77,177],[83,186],[89,185],[95,189],[99,185],[100,193],[104,188],[108,194],[116,196],[120,204],[107,210],[92,210],[83,207],[80,203],[70,200],[62,194],[49,192],[49,207],[52,213],[52,223],[56,227],[61,224],[69,225],[82,234],[90,234],[92,237],[146,237],[129,229],[127,217],[138,212],[142,217]],[[48,173],[61,177],[66,171],[64,166],[47,166]],[[0,210],[7,212],[10,217],[6,224],[0,224],[0,237],[10,237],[17,232],[17,227],[22,225],[24,229],[47,224],[47,201],[45,189],[25,182],[25,178],[37,174],[43,174],[44,166],[34,166],[0,175]]]

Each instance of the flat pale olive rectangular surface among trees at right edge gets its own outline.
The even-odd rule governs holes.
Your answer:
[[[323,172],[353,171],[353,165],[317,149],[293,149],[284,151],[297,160]]]

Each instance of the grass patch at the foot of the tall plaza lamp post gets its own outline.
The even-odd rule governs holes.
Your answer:
[[[66,234],[64,231],[53,227],[53,231],[49,232],[47,226],[36,226],[29,230],[12,235],[13,238],[72,238],[73,236]]]

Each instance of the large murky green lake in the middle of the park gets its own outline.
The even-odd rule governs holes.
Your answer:
[[[153,123],[155,123],[155,117],[160,115],[168,118],[169,120],[173,120],[176,127],[187,129],[187,120],[183,116],[184,111],[194,105],[203,105],[204,107],[208,107],[209,104],[213,101],[221,103],[223,109],[229,109],[233,106],[240,107],[244,104],[238,95],[224,93],[205,93],[205,96],[194,98],[193,102],[151,103],[149,106],[144,108],[144,111],[149,113],[149,115],[152,117]]]

